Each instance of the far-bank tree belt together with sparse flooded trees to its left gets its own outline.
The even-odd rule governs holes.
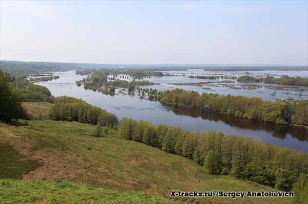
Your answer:
[[[201,95],[198,92],[183,89],[160,91],[156,89],[141,89],[138,85],[147,85],[148,81],[127,82],[122,80],[108,81],[106,70],[95,71],[84,82],[84,88],[105,94],[114,94],[115,87],[128,88],[129,92],[138,90],[142,96],[147,93],[150,100],[159,100],[163,104],[175,107],[196,107],[220,112],[235,117],[261,120],[276,124],[308,124],[308,100],[293,103],[287,101],[263,101],[257,97],[219,96],[218,94]],[[149,82],[151,83],[151,82]],[[104,87],[102,87],[104,86]]]

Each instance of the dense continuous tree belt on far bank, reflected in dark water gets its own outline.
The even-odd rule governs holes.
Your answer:
[[[257,97],[201,95],[183,89],[166,90],[158,93],[161,103],[176,107],[197,107],[213,110],[235,117],[261,120],[277,124],[308,124],[308,100],[298,102],[263,101]]]

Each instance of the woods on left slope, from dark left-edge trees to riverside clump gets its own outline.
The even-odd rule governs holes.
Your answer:
[[[115,128],[118,118],[102,108],[92,106],[73,97],[54,97],[48,88],[34,85],[21,76],[11,76],[0,71],[0,120],[11,122],[23,115],[22,102],[50,102],[51,120],[76,121],[102,127]]]

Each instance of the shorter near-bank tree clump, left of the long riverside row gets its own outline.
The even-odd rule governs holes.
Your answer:
[[[54,98],[49,117],[55,121],[76,121],[111,128],[118,124],[118,118],[114,114],[81,99],[67,96]]]

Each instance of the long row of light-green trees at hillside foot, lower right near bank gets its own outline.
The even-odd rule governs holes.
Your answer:
[[[221,132],[188,132],[180,127],[154,126],[123,118],[119,133],[165,152],[190,158],[215,175],[253,180],[278,190],[291,190],[300,173],[308,172],[308,154]]]

